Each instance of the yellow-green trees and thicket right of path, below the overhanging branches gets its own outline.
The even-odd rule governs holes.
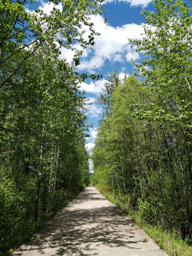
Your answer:
[[[92,183],[112,187],[114,198],[146,223],[190,241],[190,130],[184,135],[181,126],[139,118],[133,106],[155,101],[152,93],[134,75],[112,92],[112,111],[101,120],[92,154]]]

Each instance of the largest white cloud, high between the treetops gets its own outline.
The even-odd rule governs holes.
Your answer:
[[[94,73],[95,69],[102,68],[105,65],[105,60],[110,62],[124,63],[131,59],[139,59],[139,53],[135,53],[128,38],[142,38],[143,31],[142,25],[135,23],[125,24],[116,28],[110,26],[104,22],[104,18],[99,15],[90,16],[92,23],[94,23],[94,29],[100,32],[100,36],[95,36],[95,46],[90,46],[88,49],[92,49],[92,56],[90,59],[86,59],[82,56],[78,70],[87,70],[90,73]],[[88,31],[85,33],[85,38],[88,36]],[[89,52],[88,52],[89,53]],[[86,56],[89,56],[87,53]]]

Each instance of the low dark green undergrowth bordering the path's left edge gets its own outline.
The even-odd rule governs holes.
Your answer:
[[[76,195],[76,190],[55,191],[52,195],[53,203],[51,204],[50,213],[41,215],[34,222],[33,212],[31,213],[33,206],[28,205],[28,203],[31,203],[30,198],[27,202],[25,191],[18,193],[16,184],[4,178],[4,183],[1,184],[0,255],[9,255],[14,252],[18,245],[28,240],[41,225],[46,223],[56,211],[66,206]]]

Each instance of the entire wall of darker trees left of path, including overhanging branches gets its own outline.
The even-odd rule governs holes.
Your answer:
[[[94,45],[88,16],[102,14],[100,2],[53,0],[48,15],[27,0],[0,1],[0,255],[90,183],[79,83],[100,75],[76,72],[75,43]],[[59,58],[62,47],[74,51],[73,65]]]

